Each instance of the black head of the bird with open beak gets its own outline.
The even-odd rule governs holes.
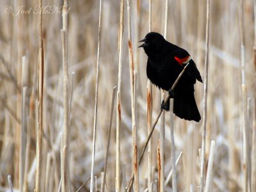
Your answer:
[[[150,32],[143,40],[140,40],[140,42],[144,43],[139,47],[143,47],[148,56],[154,56],[161,51],[165,40],[164,37],[159,33]]]

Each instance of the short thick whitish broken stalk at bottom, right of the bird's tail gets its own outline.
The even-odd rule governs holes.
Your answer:
[[[212,184],[212,166],[213,166],[213,160],[214,160],[214,147],[215,147],[215,141],[211,141],[211,149],[209,154],[209,161],[207,166],[207,175],[205,180],[205,192],[211,191],[211,184]]]

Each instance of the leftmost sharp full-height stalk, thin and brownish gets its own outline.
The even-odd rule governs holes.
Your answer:
[[[43,96],[44,96],[44,46],[43,46],[43,15],[42,0],[39,0],[40,20],[39,20],[39,62],[38,62],[38,118],[37,118],[37,137],[36,137],[36,184],[35,192],[41,191],[41,172],[42,172],[42,133],[43,133]]]

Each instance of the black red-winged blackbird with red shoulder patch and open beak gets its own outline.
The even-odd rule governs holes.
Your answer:
[[[195,102],[194,84],[196,79],[203,81],[189,53],[167,42],[162,35],[155,32],[148,33],[140,42],[144,42],[139,47],[143,47],[148,56],[147,77],[158,88],[168,91],[173,97],[173,113],[185,120],[199,122],[201,116]],[[172,84],[188,62],[188,67],[172,91]],[[168,111],[169,104],[162,104],[161,108]]]

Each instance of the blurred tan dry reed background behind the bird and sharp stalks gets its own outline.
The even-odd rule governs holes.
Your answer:
[[[244,189],[243,111],[241,91],[241,40],[239,31],[239,1],[211,1],[209,84],[206,129],[206,163],[211,140],[214,150],[212,191],[246,191]],[[43,1],[44,6],[60,8],[63,1]],[[204,80],[206,1],[170,0],[167,40],[189,51]],[[6,6],[12,13],[4,13]],[[29,10],[31,12],[19,12]],[[36,121],[38,99],[39,17],[38,1],[0,1],[0,191],[8,191],[8,175],[12,175],[15,191],[33,191],[36,175]],[[93,111],[95,101],[99,1],[68,1],[68,83],[74,87],[70,109],[69,168],[70,191],[76,191],[88,180],[92,164]],[[51,12],[51,11],[50,11]],[[16,14],[18,13],[18,14]],[[255,68],[253,1],[244,1],[245,78],[249,143],[252,159],[252,191],[256,190],[255,141]],[[108,124],[113,86],[118,81],[118,28],[120,4],[116,0],[102,1],[102,31],[99,67],[99,97],[97,136],[95,145],[95,176],[100,189],[100,172],[104,170]],[[61,13],[43,15],[44,38],[44,102],[42,136],[42,191],[58,191],[61,180],[61,137],[63,136],[63,65]],[[164,33],[164,1],[152,1],[152,31]],[[148,1],[131,1],[131,35],[136,83],[136,127],[138,154],[147,140],[147,56],[138,49],[138,40],[148,32]],[[127,38],[127,3],[124,2],[124,42],[122,50],[120,159],[121,187],[127,186],[132,175],[132,115],[129,81]],[[24,62],[22,63],[22,57]],[[26,94],[22,96],[24,88]],[[204,85],[196,83],[195,96],[203,116]],[[70,98],[70,92],[68,92]],[[161,103],[161,94],[153,86],[154,122]],[[22,109],[22,100],[25,99]],[[115,191],[116,169],[116,108],[110,139],[106,190]],[[170,115],[165,113],[164,176],[171,170]],[[202,142],[200,123],[174,117],[178,191],[198,190]],[[253,123],[254,122],[254,123]],[[152,136],[152,181],[156,191],[157,140],[160,124]],[[23,146],[23,149],[22,149]],[[27,147],[26,147],[27,146]],[[25,150],[24,150],[25,149]],[[21,170],[21,171],[20,171]],[[207,171],[207,168],[206,168]],[[20,173],[22,172],[22,173]],[[147,186],[147,151],[139,168],[140,191]],[[22,176],[24,175],[24,176]],[[205,172],[206,175],[206,172]],[[22,182],[22,177],[24,181]],[[168,182],[165,191],[171,191]],[[90,190],[90,181],[80,191]]]

